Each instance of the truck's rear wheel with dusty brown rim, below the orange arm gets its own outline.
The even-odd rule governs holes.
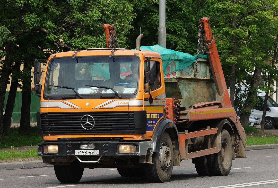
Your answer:
[[[221,151],[210,155],[212,157],[212,176],[227,176],[232,168],[232,140],[227,130],[221,131]]]

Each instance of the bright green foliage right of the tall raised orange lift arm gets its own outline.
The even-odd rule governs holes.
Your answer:
[[[232,63],[236,64],[235,80],[237,95],[235,106],[242,106],[242,95],[239,84],[244,84],[246,91],[257,92],[250,88],[254,68],[265,70],[274,49],[274,36],[277,36],[277,6],[270,1],[216,1],[208,0],[212,12],[212,32],[215,35],[220,60],[229,87]],[[265,7],[270,5],[269,7]],[[264,7],[264,8],[263,8]],[[254,91],[253,91],[254,90]],[[256,96],[256,94],[255,94]],[[254,98],[247,98],[252,103]],[[241,109],[240,109],[241,110]]]

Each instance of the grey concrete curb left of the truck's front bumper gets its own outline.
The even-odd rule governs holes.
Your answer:
[[[1,163],[0,170],[12,170],[12,169],[48,167],[48,166],[53,166],[53,165],[44,164],[42,163],[42,161],[10,162],[10,163]]]

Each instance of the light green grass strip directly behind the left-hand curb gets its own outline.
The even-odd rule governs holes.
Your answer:
[[[18,159],[18,158],[41,158],[38,156],[37,149],[29,149],[26,152],[13,151],[13,148],[9,151],[0,151],[0,160]]]

